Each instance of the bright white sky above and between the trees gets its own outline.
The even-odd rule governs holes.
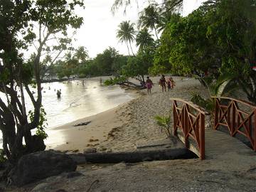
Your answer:
[[[159,0],[160,1],[160,0]],[[139,4],[134,4],[124,9],[119,9],[115,14],[111,12],[114,0],[85,0],[85,9],[79,9],[76,13],[84,18],[84,23],[78,30],[75,38],[75,46],[85,46],[90,58],[94,58],[98,53],[102,53],[108,47],[113,47],[120,54],[128,55],[125,43],[119,43],[116,38],[117,28],[122,21],[137,23],[138,13],[146,7],[146,3],[139,0]],[[201,5],[203,0],[185,0],[183,4],[183,16],[188,15]],[[136,28],[137,29],[137,28]],[[135,43],[132,48],[137,50]]]

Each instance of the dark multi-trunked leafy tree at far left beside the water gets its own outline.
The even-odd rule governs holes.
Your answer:
[[[31,134],[32,129],[43,126],[41,57],[43,52],[50,51],[47,46],[50,38],[63,35],[64,38],[59,41],[66,41],[68,27],[75,29],[81,26],[82,18],[74,14],[76,5],[82,6],[82,1],[0,2],[0,91],[6,95],[6,101],[0,98],[0,129],[3,134],[4,154],[11,164],[16,164],[23,154],[45,147],[42,137]],[[39,30],[38,34],[33,33],[35,26]],[[18,34],[22,34],[22,38]],[[38,43],[36,57],[25,63],[23,52],[33,43]],[[36,86],[36,96],[28,86],[31,83]],[[25,91],[33,104],[33,115],[29,119]]]

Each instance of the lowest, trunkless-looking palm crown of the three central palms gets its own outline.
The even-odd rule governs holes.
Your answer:
[[[142,50],[150,45],[152,45],[154,42],[154,39],[152,38],[152,35],[149,33],[147,28],[142,29],[142,31],[139,31],[136,37],[136,46],[139,46],[139,50]]]

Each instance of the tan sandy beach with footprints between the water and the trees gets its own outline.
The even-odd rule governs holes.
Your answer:
[[[174,77],[176,86],[170,92],[161,92],[159,77],[151,80],[154,87],[149,95],[146,90],[133,91],[137,98],[130,102],[50,129],[49,132],[54,132],[57,137],[46,142],[48,149],[80,152],[88,148],[96,148],[97,151],[134,151],[137,144],[156,142],[166,137],[154,116],[170,114],[171,97],[189,100],[192,91],[207,94],[200,82],[192,78]],[[73,126],[82,122],[90,123]]]

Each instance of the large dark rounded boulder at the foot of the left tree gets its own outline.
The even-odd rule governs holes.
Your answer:
[[[63,172],[75,171],[76,164],[67,154],[55,151],[39,151],[22,156],[11,171],[10,177],[16,186],[55,176]]]

